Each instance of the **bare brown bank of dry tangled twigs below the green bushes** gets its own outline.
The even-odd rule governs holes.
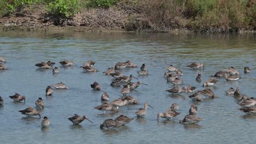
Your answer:
[[[142,14],[116,9],[84,9],[71,18],[48,15],[41,7],[25,8],[22,13],[14,13],[0,18],[0,31],[75,31],[75,32],[164,32],[164,33],[222,33],[220,29],[165,29],[154,31],[154,26],[144,20]],[[238,33],[255,33],[244,31]]]

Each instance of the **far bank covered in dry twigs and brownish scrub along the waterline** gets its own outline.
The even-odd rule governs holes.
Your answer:
[[[220,5],[226,3],[212,4],[211,9],[205,8],[203,11],[202,8],[195,8],[194,3],[188,1],[184,1],[183,6],[169,1],[149,0],[148,3],[141,1],[136,4],[120,1],[109,8],[83,7],[78,13],[68,17],[49,13],[44,5],[25,5],[21,10],[15,10],[1,17],[0,28],[3,31],[52,31],[61,27],[60,29],[67,31],[81,32],[254,33],[256,31],[256,18],[254,19],[256,11],[250,11],[255,4],[249,1],[247,2],[249,5],[245,6],[247,10],[234,9],[235,7],[228,5],[227,9],[232,10],[232,15],[228,11],[225,14],[224,7],[220,8]],[[188,9],[189,7],[193,9]],[[217,12],[216,9],[222,13]]]

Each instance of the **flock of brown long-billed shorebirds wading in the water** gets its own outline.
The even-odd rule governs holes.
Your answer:
[[[6,63],[6,62],[7,61],[3,57],[0,57],[0,70],[8,70],[8,68],[4,65],[4,63]],[[74,62],[67,61],[67,60],[61,61],[59,63],[65,67],[69,67],[74,64]],[[53,68],[54,64],[55,64],[54,62],[48,61],[48,62],[36,63],[36,66],[39,69],[52,69],[53,74],[60,73],[59,68],[57,68],[57,67]],[[83,63],[83,66],[80,68],[82,68],[85,71],[90,71],[90,72],[98,71],[97,69],[95,69],[93,67],[94,64],[95,64],[94,61],[88,61],[86,63]],[[131,61],[126,61],[126,62],[118,62],[117,64],[114,65],[114,67],[108,68],[106,71],[104,71],[103,72],[104,75],[111,75],[115,78],[110,83],[110,86],[117,87],[117,86],[123,85],[123,89],[121,89],[121,91],[120,91],[120,93],[123,94],[123,97],[113,100],[110,103],[107,103],[106,101],[109,100],[109,96],[108,96],[107,92],[103,92],[102,97],[101,97],[102,105],[95,106],[94,109],[103,111],[104,113],[106,113],[107,111],[118,112],[118,109],[121,106],[127,106],[129,109],[129,104],[139,104],[139,102],[135,98],[133,98],[131,95],[127,95],[127,94],[129,94],[130,91],[136,89],[139,85],[141,85],[141,84],[147,85],[147,84],[142,83],[141,81],[133,83],[133,82],[131,82],[131,80],[133,78],[137,79],[137,77],[135,77],[133,75],[125,76],[120,71],[120,69],[136,68],[136,67],[137,67],[136,64],[132,63]],[[187,67],[189,67],[191,69],[204,69],[203,63],[196,63],[196,62],[191,63],[190,65],[187,65]],[[170,82],[173,85],[173,87],[171,89],[167,89],[166,91],[172,93],[173,95],[178,95],[181,93],[193,93],[193,94],[189,95],[189,98],[191,98],[191,100],[193,100],[193,101],[202,101],[203,99],[202,99],[201,95],[204,95],[205,97],[211,98],[211,99],[218,98],[218,96],[214,94],[214,92],[212,91],[212,89],[210,89],[210,87],[213,86],[215,83],[217,83],[220,78],[224,78],[226,81],[236,81],[236,80],[239,80],[242,78],[239,71],[237,71],[234,67],[230,67],[229,69],[226,69],[223,71],[217,71],[216,74],[212,75],[212,77],[214,77],[214,78],[210,77],[205,82],[203,82],[202,86],[205,87],[205,89],[195,92],[196,87],[192,87],[190,85],[188,85],[187,87],[182,87],[182,88],[180,87],[180,85],[183,84],[183,79],[181,79],[181,76],[183,75],[183,73],[180,69],[177,69],[173,65],[170,65],[170,66],[166,67],[166,70],[168,70],[168,72],[166,72],[164,74],[166,77],[166,80],[167,80],[167,82]],[[148,70],[147,70],[146,64],[142,64],[140,70],[137,71],[137,73],[138,73],[138,75],[148,75]],[[250,73],[249,67],[245,67],[244,73],[245,74]],[[198,73],[198,75],[195,77],[195,80],[197,82],[202,82],[202,76],[200,73]],[[47,86],[46,92],[45,92],[46,97],[50,97],[53,94],[54,89],[52,87],[54,87],[56,89],[69,89],[65,85],[65,83],[62,83],[62,82],[56,83],[55,85]],[[92,83],[91,88],[94,89],[95,91],[101,90],[101,86],[98,82]],[[240,109],[241,111],[247,113],[248,115],[256,114],[256,107],[253,107],[256,104],[255,98],[249,98],[246,95],[241,94],[239,87],[237,87],[236,89],[231,87],[230,89],[228,89],[225,92],[226,92],[226,94],[234,95],[234,97],[238,100],[237,104],[242,106]],[[18,102],[23,100],[24,103],[26,100],[25,96],[20,95],[18,93],[15,93],[14,95],[9,96],[9,98],[12,99],[13,101],[18,101]],[[3,105],[3,101],[4,101],[3,98],[0,97],[0,105]],[[41,113],[38,112],[38,109],[44,109],[43,99],[38,98],[38,100],[35,102],[35,104],[36,104],[36,109],[33,109],[33,107],[28,106],[27,109],[20,110],[19,112],[21,112],[22,114],[24,114],[26,116],[37,116],[38,115],[40,117]],[[150,106],[146,102],[146,103],[144,103],[144,108],[138,109],[135,112],[136,116],[144,117],[147,114],[148,106],[151,107],[152,109],[154,109],[152,106]],[[170,109],[164,111],[163,113],[158,113],[157,120],[159,120],[160,117],[166,118],[166,119],[172,119],[173,117],[176,117],[177,115],[180,114],[179,112],[177,112],[178,109],[179,109],[179,105],[177,103],[173,103],[171,105]],[[197,115],[197,106],[193,104],[190,106],[188,115],[186,115],[179,122],[194,124],[194,123],[198,123],[198,122],[204,120],[203,118],[197,117],[196,115]],[[73,117],[69,117],[68,119],[74,125],[77,125],[77,124],[83,122],[84,119],[91,122],[87,116],[81,117],[77,114],[74,114]],[[125,115],[120,115],[119,117],[117,117],[115,119],[106,119],[100,125],[100,128],[101,129],[117,128],[120,125],[125,125],[127,123],[130,123],[132,120],[133,120],[133,118],[129,118]],[[41,125],[42,125],[42,127],[49,127],[50,120],[48,119],[48,117],[44,116],[44,118],[42,119]]]

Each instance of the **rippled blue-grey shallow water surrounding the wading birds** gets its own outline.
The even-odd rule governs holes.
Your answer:
[[[170,35],[170,34],[119,34],[119,33],[25,33],[1,32],[0,56],[7,59],[9,70],[0,71],[0,96],[4,106],[0,108],[0,140],[2,143],[254,143],[256,116],[248,116],[239,111],[240,106],[225,90],[240,87],[240,91],[249,97],[255,97],[255,55],[256,35]],[[76,65],[60,67],[59,61],[69,59]],[[79,68],[88,60],[96,61],[99,71],[85,73]],[[41,61],[56,62],[60,73],[53,75],[51,70],[39,70],[34,64]],[[141,85],[130,94],[141,105],[121,107],[118,113],[98,115],[101,111],[93,109],[101,104],[101,94],[106,91],[110,100],[121,97],[121,87],[113,88],[111,76],[102,72],[115,63],[131,60],[137,68],[122,70],[123,74],[138,76],[136,71],[145,63],[149,76],[138,77]],[[186,65],[202,62],[204,70],[191,70]],[[231,66],[241,72],[243,79],[227,82],[220,79],[211,87],[219,96],[217,99],[195,103],[188,98],[191,93],[173,96],[166,92],[172,84],[166,83],[165,67],[173,64],[183,71],[184,85],[204,89],[195,77],[201,73],[203,81],[216,71]],[[243,68],[249,66],[250,74],[243,74]],[[90,84],[100,83],[102,90],[93,91]],[[137,80],[133,79],[133,82]],[[63,82],[70,88],[55,90],[52,97],[45,96],[48,85]],[[8,98],[15,92],[27,97],[26,103],[14,103]],[[21,115],[19,110],[27,106],[35,107],[34,102],[42,97],[51,125],[41,128],[36,117]],[[202,96],[203,97],[203,96]],[[204,98],[204,97],[203,97]],[[136,118],[135,111],[148,102],[144,118]],[[172,121],[160,119],[157,114],[167,110],[172,103],[179,104],[181,115]],[[197,116],[205,121],[198,124],[180,124],[179,120],[188,114],[191,104],[198,107]],[[84,121],[73,126],[68,117],[77,113],[87,115],[94,122]],[[126,126],[114,130],[101,130],[104,119],[119,115],[135,118]]]

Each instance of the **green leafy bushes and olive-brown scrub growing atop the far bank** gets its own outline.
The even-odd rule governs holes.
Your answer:
[[[255,0],[1,0],[0,16],[8,16],[17,11],[22,13],[22,8],[27,5],[40,5],[46,13],[66,19],[84,9],[125,11],[127,16],[124,18],[127,20],[124,20],[123,28],[126,31],[256,30]]]

